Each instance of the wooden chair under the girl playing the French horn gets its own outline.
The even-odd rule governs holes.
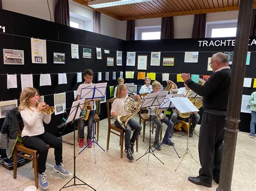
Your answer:
[[[124,130],[118,128],[114,123],[111,123],[110,119],[110,105],[113,103],[113,101],[116,99],[116,97],[111,98],[110,100],[106,101],[107,104],[107,122],[109,124],[108,130],[107,130],[107,150],[109,150],[109,141],[110,141],[110,133],[113,133],[114,135],[117,135],[120,137],[119,139],[119,145],[121,149],[121,158],[123,158],[123,151],[124,151]],[[136,152],[138,152],[139,149],[139,136],[136,139]]]

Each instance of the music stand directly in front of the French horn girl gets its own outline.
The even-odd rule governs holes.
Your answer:
[[[141,107],[140,107],[140,108],[149,108],[150,109],[149,148],[147,148],[145,154],[143,154],[141,157],[139,157],[137,159],[137,160],[139,160],[140,158],[144,157],[147,153],[149,153],[149,157],[147,158],[147,168],[149,167],[150,153],[153,154],[153,156],[157,158],[156,154],[154,154],[154,151],[152,150],[152,147],[151,147],[151,116],[152,116],[152,113],[151,113],[150,107],[155,107],[155,106],[160,105],[160,103],[163,102],[163,100],[167,94],[168,94],[168,91],[159,91],[158,93],[147,94],[146,97],[144,98],[144,101],[143,101]],[[164,162],[162,162],[159,158],[157,158],[157,159],[164,165]],[[146,169],[146,175],[147,175],[147,169]]]

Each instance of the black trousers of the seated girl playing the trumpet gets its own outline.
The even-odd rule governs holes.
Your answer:
[[[46,169],[45,164],[48,155],[47,145],[54,148],[56,165],[60,165],[60,162],[62,162],[62,140],[51,133],[45,131],[38,136],[24,136],[22,137],[22,142],[24,146],[38,151],[38,173],[42,174]]]

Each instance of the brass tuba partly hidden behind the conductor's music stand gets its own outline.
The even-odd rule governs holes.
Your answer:
[[[205,81],[203,79],[198,78],[198,83],[201,86],[204,86]],[[203,106],[203,97],[197,97],[197,95],[198,94],[195,94],[193,91],[191,91],[187,93],[185,97],[187,97],[188,100],[190,100],[197,109],[200,109]],[[177,113],[181,118],[188,118],[190,116],[189,113],[181,114],[179,111]]]

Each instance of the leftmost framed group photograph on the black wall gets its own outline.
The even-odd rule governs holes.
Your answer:
[[[5,65],[24,65],[24,51],[18,49],[3,49]]]

